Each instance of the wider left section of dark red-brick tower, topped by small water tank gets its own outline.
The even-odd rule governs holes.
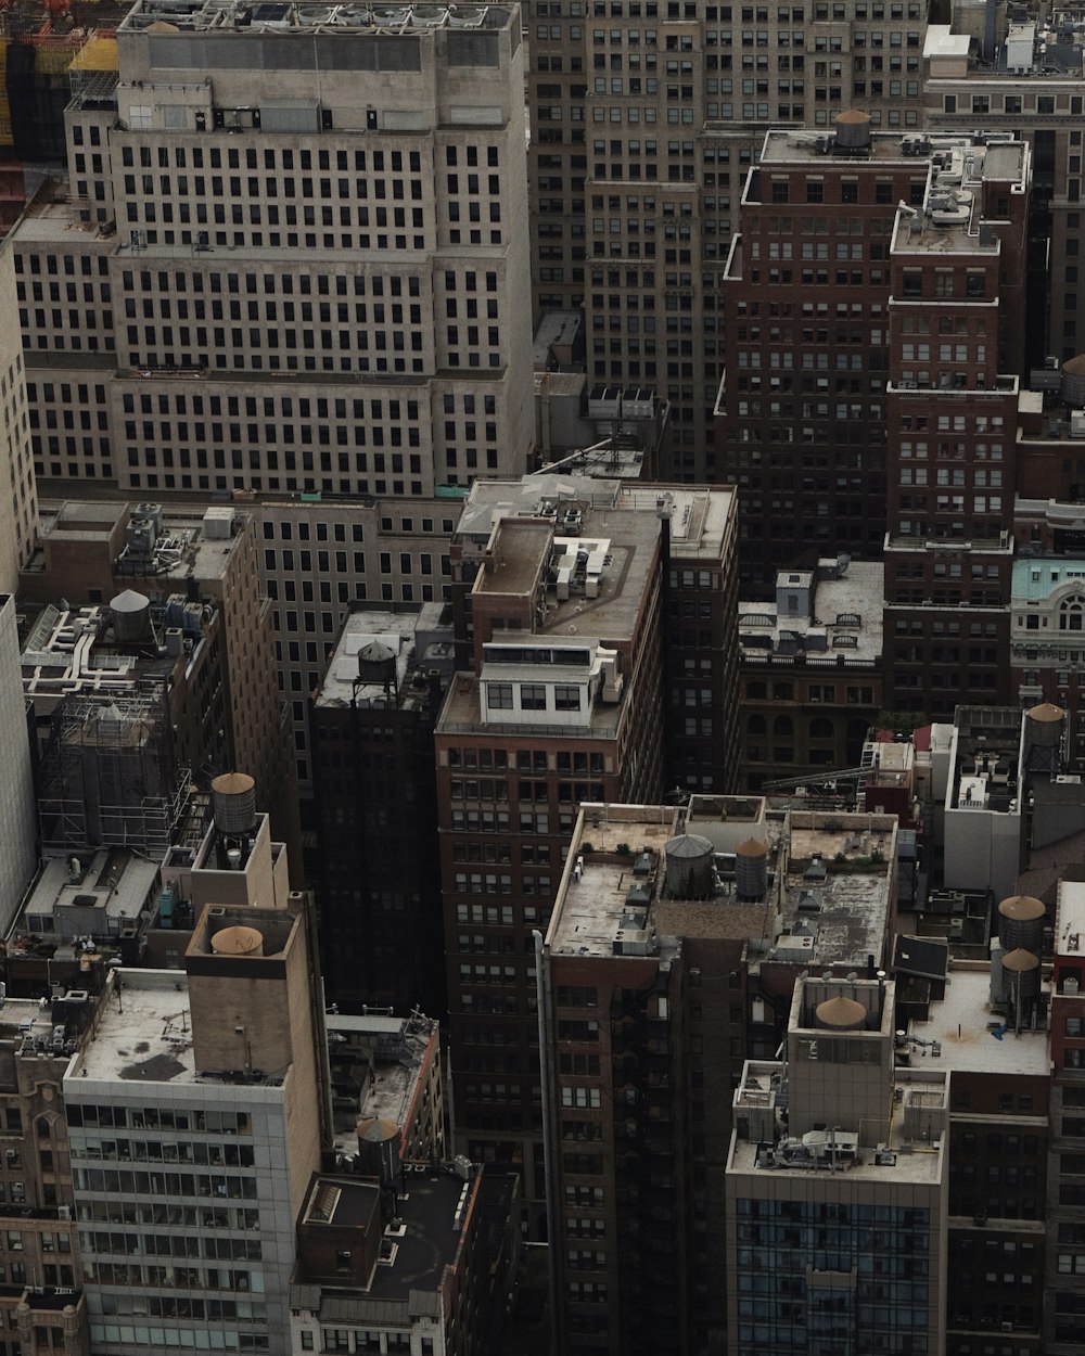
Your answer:
[[[844,114],[835,137],[770,132],[746,182],[716,408],[746,597],[769,597],[785,565],[882,553],[890,241],[928,178],[911,145]]]

